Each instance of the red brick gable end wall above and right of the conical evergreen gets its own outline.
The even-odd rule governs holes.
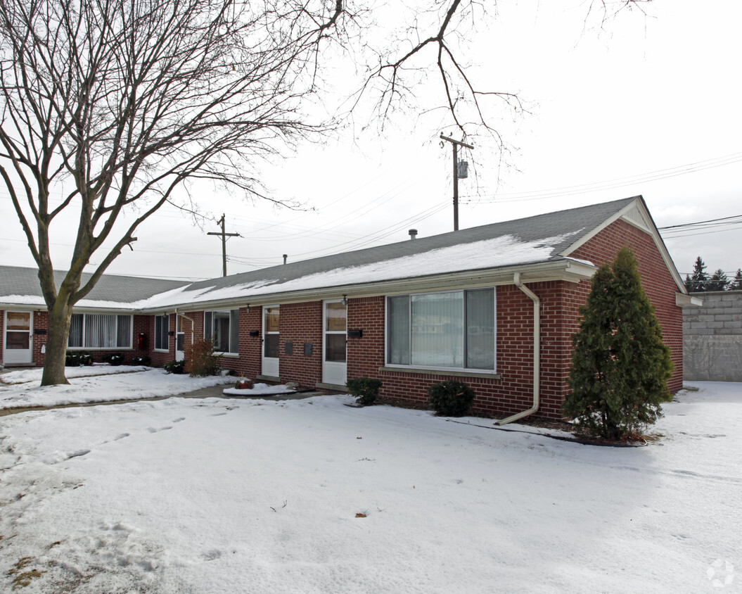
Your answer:
[[[674,371],[669,388],[672,393],[677,392],[683,388],[683,310],[675,304],[679,289],[651,236],[624,221],[616,221],[575,250],[573,256],[604,264],[624,246],[631,247],[637,258],[642,286],[654,305],[663,340],[672,353]]]

